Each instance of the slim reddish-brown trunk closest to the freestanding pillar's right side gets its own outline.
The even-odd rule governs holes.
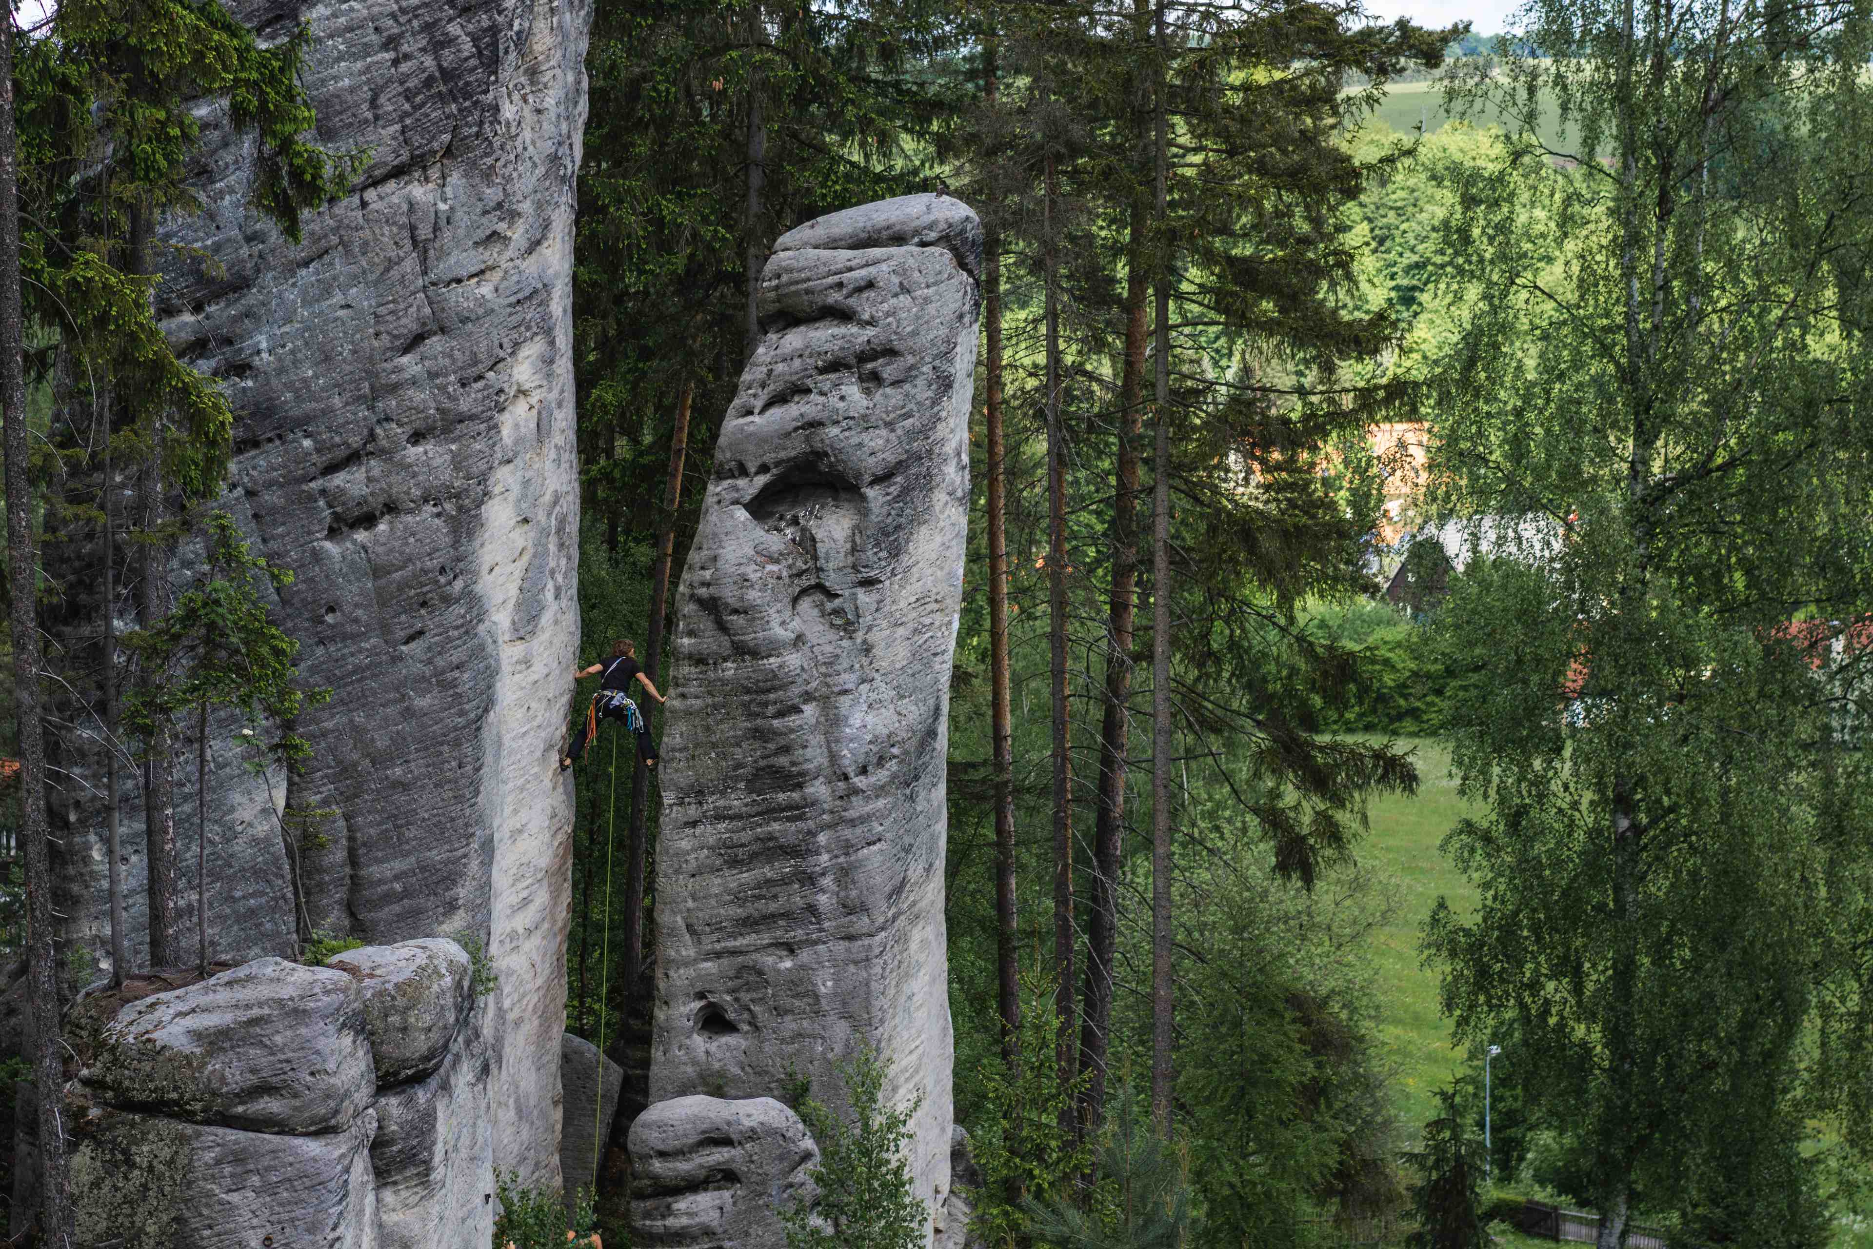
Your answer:
[[[996,45],[983,51],[983,97],[995,109]],[[1002,1022],[1002,1062],[1021,1064],[1021,933],[1015,910],[1015,721],[1008,682],[1008,463],[1002,438],[1002,234],[981,240],[981,307],[987,333],[989,440],[989,719],[995,742],[995,1007]],[[1010,1200],[1019,1200],[1019,1193]]]

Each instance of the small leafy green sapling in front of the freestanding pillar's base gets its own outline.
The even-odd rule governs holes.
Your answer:
[[[807,1097],[800,1120],[820,1148],[819,1202],[781,1212],[787,1249],[920,1249],[931,1212],[918,1198],[905,1148],[916,1103],[886,1099],[890,1067],[869,1049],[837,1064],[848,1114]]]

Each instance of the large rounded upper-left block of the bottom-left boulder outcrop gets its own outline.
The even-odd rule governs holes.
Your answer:
[[[260,1133],[350,1127],[376,1094],[356,981],[285,959],[131,1002],[81,1079],[112,1107]]]

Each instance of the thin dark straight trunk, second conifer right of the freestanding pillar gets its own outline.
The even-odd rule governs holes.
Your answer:
[[[1066,431],[1060,427],[1060,257],[1054,242],[1054,159],[1047,157],[1041,198],[1041,266],[1047,322],[1047,654],[1053,702],[1053,833],[1054,833],[1054,1049],[1060,1082],[1075,1077],[1073,1054],[1073,760],[1066,685]],[[1073,1109],[1062,1109],[1071,1127]]]

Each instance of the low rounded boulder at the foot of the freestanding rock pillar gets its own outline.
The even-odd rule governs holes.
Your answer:
[[[817,1197],[819,1146],[772,1097],[674,1097],[631,1124],[631,1243],[783,1249],[777,1212]]]

